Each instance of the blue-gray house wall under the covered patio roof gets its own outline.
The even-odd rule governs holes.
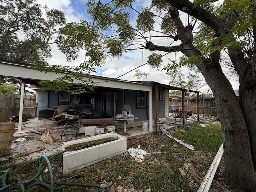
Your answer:
[[[167,90],[168,91],[168,90]],[[160,92],[163,92],[163,100],[160,100]],[[38,110],[50,108],[53,109],[54,106],[58,106],[59,104],[59,94],[66,92],[54,92],[54,91],[45,91],[38,92]],[[136,108],[136,98],[137,98],[137,90],[116,90],[116,92],[89,92],[85,94],[81,94],[79,96],[80,104],[91,104],[91,98],[94,98],[94,109],[100,111],[102,114],[102,94],[110,93],[111,94],[111,108],[110,115],[108,117],[113,117],[116,114],[122,114],[122,110],[124,110],[123,104],[130,104],[132,114],[138,117],[138,121],[147,120],[148,119],[148,92],[146,92],[146,108]],[[116,93],[116,95],[115,95]],[[124,93],[124,96],[123,96]],[[153,98],[154,98],[154,89],[153,89]],[[116,114],[114,114],[114,102],[116,96]],[[164,89],[158,90],[158,118],[164,118],[166,116],[165,108],[166,108],[166,94]],[[167,98],[168,99],[168,98]],[[70,95],[70,104],[74,101],[74,95]],[[153,99],[153,108],[152,112],[154,115],[154,99]],[[95,115],[98,117],[100,115]],[[104,116],[107,117],[107,116]]]

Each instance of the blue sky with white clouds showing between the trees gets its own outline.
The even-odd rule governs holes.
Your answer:
[[[80,22],[80,20],[91,20],[88,14],[86,14],[86,2],[87,0],[38,0],[42,6],[47,4],[47,6],[51,9],[58,9],[62,10],[66,14],[67,22]],[[109,0],[102,0],[102,2],[109,2]],[[136,9],[139,10],[143,7],[149,6],[151,0],[136,0]],[[136,18],[135,18],[136,19]],[[160,41],[165,41],[166,44],[169,44],[170,39],[162,39]],[[159,41],[159,44],[162,43]],[[157,44],[157,42],[154,42]],[[50,64],[60,64],[60,65],[68,65],[68,66],[76,66],[79,65],[81,62],[84,61],[84,54],[85,52],[80,52],[79,57],[77,60],[72,62],[67,62],[65,59],[64,54],[58,51],[56,46],[52,46],[52,58],[48,60]],[[121,59],[113,58],[112,60],[107,59],[106,64],[102,68],[97,68],[97,72],[94,75],[110,77],[110,78],[117,78],[122,74],[144,64],[148,60],[148,56],[151,54],[148,50],[136,50],[133,52],[126,53]],[[175,54],[168,54],[168,58],[174,58]],[[176,56],[177,58],[178,56]],[[167,57],[163,58],[163,65],[167,64],[169,61]],[[168,84],[170,81],[170,76],[166,75],[164,71],[156,71],[155,69],[150,68],[148,65],[138,68],[142,70],[142,72],[149,73],[150,76],[147,79],[137,79],[134,76],[136,73],[135,70],[120,77],[119,79],[122,80],[142,80],[142,81],[155,81],[162,84]],[[188,75],[189,70],[184,68],[184,74]],[[237,83],[232,83],[233,87],[236,89],[238,88]],[[200,91],[203,91],[201,89]]]

